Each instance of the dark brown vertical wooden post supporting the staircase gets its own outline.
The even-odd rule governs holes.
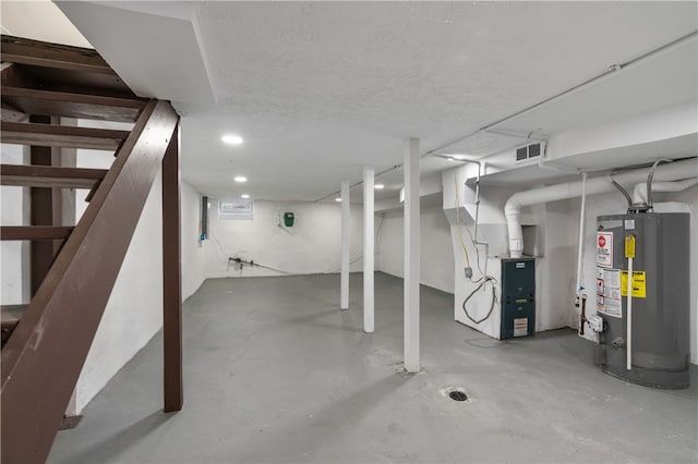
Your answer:
[[[163,340],[165,412],[180,411],[182,381],[182,273],[179,125],[163,158]]]

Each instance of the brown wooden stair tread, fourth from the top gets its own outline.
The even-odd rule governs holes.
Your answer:
[[[34,187],[92,188],[106,169],[0,164],[0,184]]]

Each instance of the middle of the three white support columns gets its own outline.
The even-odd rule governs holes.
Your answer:
[[[363,168],[363,331],[372,333],[375,330],[374,292],[373,292],[373,183],[375,170]]]

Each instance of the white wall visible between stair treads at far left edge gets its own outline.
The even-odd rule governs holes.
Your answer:
[[[0,161],[7,164],[23,164],[24,147],[21,145],[0,144]],[[28,188],[10,185],[0,186],[0,203],[2,225],[25,224],[24,205]],[[28,269],[23,260],[28,257],[28,242],[0,242],[0,277],[2,293],[0,300],[3,305],[19,305],[27,303]]]

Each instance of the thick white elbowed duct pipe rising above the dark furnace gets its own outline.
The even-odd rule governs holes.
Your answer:
[[[654,179],[658,181],[679,181],[693,178],[698,172],[698,158],[690,158],[683,161],[662,164],[654,171]],[[617,183],[636,184],[647,179],[648,170],[635,169],[614,175]],[[586,194],[594,195],[611,192],[614,186],[605,176],[587,180]],[[519,192],[509,197],[504,206],[507,231],[509,234],[509,255],[513,258],[520,258],[524,253],[524,232],[521,230],[521,208],[530,205],[539,205],[558,199],[575,198],[581,195],[581,181],[567,182],[564,184],[551,185],[541,188],[533,188]]]

